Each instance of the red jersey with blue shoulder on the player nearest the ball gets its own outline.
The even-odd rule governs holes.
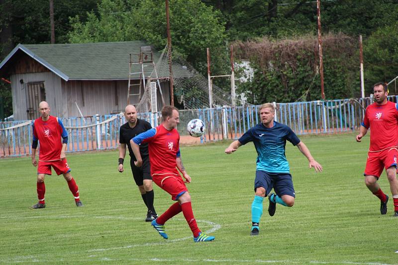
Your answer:
[[[148,143],[151,175],[173,174],[180,176],[176,158],[180,156],[180,134],[168,131],[162,124],[133,138],[136,144]]]

